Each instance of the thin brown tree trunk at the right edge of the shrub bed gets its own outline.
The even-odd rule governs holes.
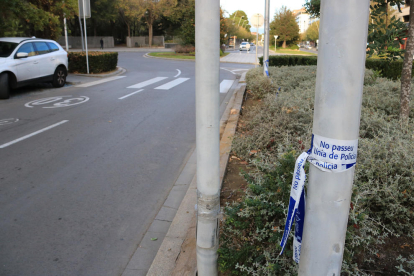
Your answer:
[[[410,115],[411,73],[414,55],[414,1],[410,3],[410,23],[408,27],[407,48],[404,55],[403,70],[401,72],[401,109],[400,119],[408,123]]]

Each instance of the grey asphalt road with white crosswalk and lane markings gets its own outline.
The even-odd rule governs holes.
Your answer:
[[[195,146],[195,64],[119,65],[0,102],[0,275],[120,275],[162,206]],[[222,81],[253,66],[221,67]]]

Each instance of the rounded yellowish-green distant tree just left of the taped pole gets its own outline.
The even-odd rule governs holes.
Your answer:
[[[270,29],[270,35],[278,35],[278,39],[283,41],[283,48],[286,48],[287,43],[295,43],[299,39],[298,23],[292,11],[285,6],[275,13]]]

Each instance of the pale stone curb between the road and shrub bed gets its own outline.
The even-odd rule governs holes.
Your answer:
[[[226,172],[245,90],[245,84],[237,85],[237,89],[230,98],[220,121],[221,185]],[[193,155],[195,155],[195,152]],[[151,264],[147,276],[196,275],[196,212],[194,209],[196,203],[197,176],[195,175]],[[187,230],[183,232],[182,229]]]

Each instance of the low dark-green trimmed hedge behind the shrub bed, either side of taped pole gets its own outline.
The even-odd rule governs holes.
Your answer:
[[[263,65],[263,57],[259,58],[260,64]],[[270,56],[269,66],[297,66],[297,65],[316,65],[318,61],[314,56]],[[403,66],[403,60],[396,60],[389,62],[384,59],[367,58],[365,61],[365,67],[374,71],[380,72],[380,76],[397,80],[401,78],[401,71]],[[413,70],[414,76],[414,70]]]

